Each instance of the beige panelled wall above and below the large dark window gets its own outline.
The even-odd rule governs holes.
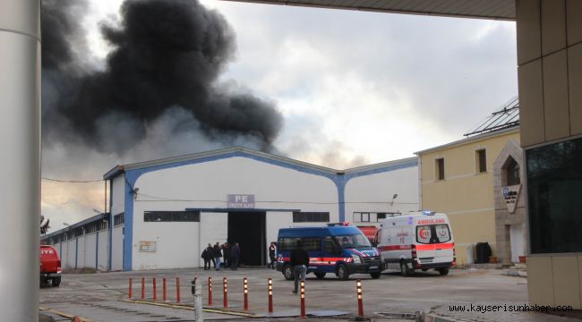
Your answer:
[[[582,134],[582,0],[517,0],[521,146]],[[582,256],[527,258],[532,304],[582,309]]]

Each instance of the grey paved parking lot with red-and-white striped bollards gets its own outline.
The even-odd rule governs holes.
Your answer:
[[[373,320],[395,320],[398,314],[415,311],[432,312],[441,317],[460,320],[547,321],[551,317],[541,313],[458,313],[451,305],[525,304],[526,279],[508,276],[501,269],[454,269],[447,276],[434,271],[402,277],[398,273],[384,273],[380,279],[369,275],[351,275],[348,281],[339,281],[334,275],[317,279],[307,275],[305,298],[308,313],[327,318],[353,318],[357,315],[357,278],[363,282],[364,315]],[[228,314],[207,311],[206,319],[230,320],[236,318],[265,319],[268,316],[268,278],[273,279],[274,314],[280,320],[292,320],[299,312],[299,296],[292,294],[293,282],[279,272],[267,268],[240,268],[237,271],[204,271],[200,268],[157,270],[145,272],[114,272],[97,274],[67,274],[60,287],[40,290],[41,310],[56,318],[78,315],[93,321],[169,321],[193,320],[190,309],[154,306],[128,300],[129,279],[133,279],[133,298],[141,300],[141,277],[145,279],[145,299],[153,300],[152,280],[157,280],[157,300],[162,302],[162,280],[167,278],[167,304],[176,301],[175,278],[181,286],[181,301],[192,303],[189,282],[198,277],[202,282],[203,304],[208,304],[208,277],[213,278],[213,304],[223,307],[223,277],[227,277]],[[233,315],[243,309],[243,278],[249,280],[248,315]],[[210,309],[210,307],[208,307]],[[328,312],[324,312],[328,311]],[[321,313],[323,312],[323,313]],[[232,313],[232,314],[231,314]],[[338,315],[338,316],[335,316]],[[263,317],[263,318],[260,318]],[[287,318],[286,318],[287,317]],[[406,320],[401,316],[396,320]],[[272,317],[271,317],[272,319]],[[325,318],[318,318],[322,320]],[[561,319],[562,320],[562,319]]]

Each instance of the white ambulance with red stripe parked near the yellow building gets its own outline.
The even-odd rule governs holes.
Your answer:
[[[455,265],[455,241],[445,214],[422,211],[389,216],[380,221],[373,244],[384,258],[385,268],[399,268],[403,276],[415,269],[435,269],[447,275]]]

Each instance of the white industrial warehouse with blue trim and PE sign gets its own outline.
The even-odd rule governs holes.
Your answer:
[[[242,264],[266,265],[280,227],[376,225],[417,210],[419,199],[415,157],[338,171],[224,148],[117,165],[104,179],[106,214],[42,237],[63,267],[201,267],[204,246],[227,241],[240,244]]]

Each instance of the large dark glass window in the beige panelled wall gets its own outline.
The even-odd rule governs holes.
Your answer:
[[[582,139],[526,151],[532,253],[582,252]]]

